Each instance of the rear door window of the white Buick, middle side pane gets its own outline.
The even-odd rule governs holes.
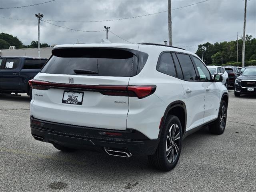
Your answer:
[[[196,71],[189,55],[177,53],[176,56],[182,68],[184,80],[194,81],[197,80]]]

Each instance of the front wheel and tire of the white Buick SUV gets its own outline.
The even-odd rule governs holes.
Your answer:
[[[212,134],[220,135],[224,132],[227,122],[227,109],[226,102],[222,101],[217,120],[209,126],[209,131]]]

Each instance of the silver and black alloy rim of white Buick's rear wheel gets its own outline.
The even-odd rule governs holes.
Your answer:
[[[175,162],[180,150],[180,129],[177,124],[172,124],[166,139],[166,158],[169,163]]]

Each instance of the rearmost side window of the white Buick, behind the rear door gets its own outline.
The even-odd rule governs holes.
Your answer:
[[[156,66],[156,70],[170,76],[176,76],[176,71],[170,52],[163,53],[160,56],[160,60]]]

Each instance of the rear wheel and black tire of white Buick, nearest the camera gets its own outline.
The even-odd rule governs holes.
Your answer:
[[[182,126],[180,120],[177,116],[169,115],[162,126],[162,134],[155,154],[148,156],[150,165],[163,171],[172,170],[180,158],[181,144]]]

